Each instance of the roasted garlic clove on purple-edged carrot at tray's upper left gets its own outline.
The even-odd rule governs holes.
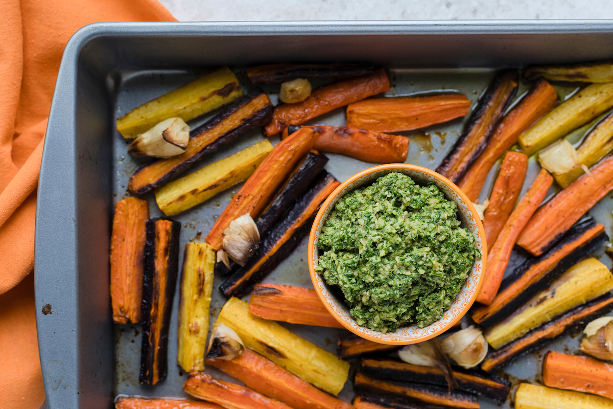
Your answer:
[[[185,152],[189,143],[189,125],[181,118],[168,118],[140,134],[128,147],[135,156],[170,158]]]

